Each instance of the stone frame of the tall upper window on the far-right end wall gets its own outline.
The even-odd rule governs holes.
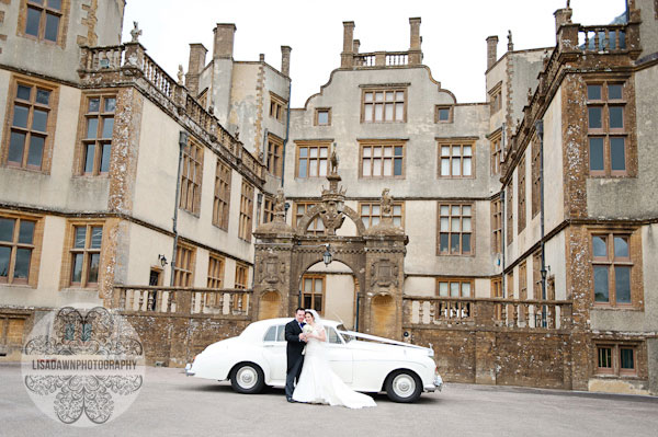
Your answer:
[[[622,85],[622,97],[610,99],[610,85]],[[601,88],[601,99],[589,97],[589,87]],[[631,176],[631,134],[633,126],[631,126],[631,116],[628,111],[631,108],[631,96],[629,96],[629,80],[627,78],[608,78],[608,79],[593,79],[586,82],[586,101],[587,101],[587,169],[589,171],[589,177],[628,177]],[[590,127],[589,112],[592,107],[601,108],[601,127]],[[610,107],[623,107],[622,128],[613,128],[610,126]],[[592,170],[591,168],[591,139],[602,138],[603,140],[603,170]],[[612,170],[612,138],[624,139],[624,170]]]

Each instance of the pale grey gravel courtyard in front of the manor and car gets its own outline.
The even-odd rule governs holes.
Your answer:
[[[657,436],[658,398],[446,384],[416,404],[385,394],[377,407],[288,404],[283,391],[235,393],[228,382],[148,368],[131,409],[76,428],[46,417],[27,395],[18,364],[0,364],[1,436]]]

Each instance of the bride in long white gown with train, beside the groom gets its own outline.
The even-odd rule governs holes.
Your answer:
[[[304,326],[308,340],[304,367],[293,399],[297,402],[344,405],[349,409],[376,406],[371,396],[353,391],[331,370],[325,350],[327,334],[315,310],[306,310],[306,324],[309,327]]]

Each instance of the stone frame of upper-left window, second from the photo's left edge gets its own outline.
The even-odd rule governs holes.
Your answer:
[[[92,99],[99,99],[99,112],[98,113],[90,113],[89,112],[89,102]],[[104,102],[105,99],[114,99],[115,103],[114,103],[114,112],[111,113],[105,113],[104,111],[101,111],[102,108],[104,108]],[[114,149],[114,126],[115,126],[115,122],[116,122],[116,104],[118,103],[118,95],[115,93],[110,92],[94,92],[94,93],[89,93],[89,94],[83,94],[82,99],[80,101],[80,117],[78,120],[78,140],[76,141],[78,147],[76,150],[76,157],[73,159],[75,164],[75,174],[79,175],[79,176],[107,176],[110,174],[110,164],[112,162],[112,151]],[[101,126],[104,126],[104,122],[103,124],[98,123],[97,124],[97,137],[95,138],[87,138],[87,131],[88,131],[88,123],[89,119],[91,118],[95,118],[97,120],[100,119],[106,119],[110,118],[110,114],[112,114],[112,119],[113,119],[113,128],[112,128],[112,137],[110,138],[101,138],[99,137],[99,131],[101,130]],[[86,164],[87,164],[87,146],[88,145],[93,145],[94,146],[94,162],[93,162],[93,168],[91,172],[87,172],[86,171]],[[110,145],[110,157],[109,157],[109,162],[107,162],[107,171],[106,172],[102,172],[101,171],[101,164],[102,164],[102,150],[103,150],[103,146]],[[99,150],[101,151],[99,153]]]

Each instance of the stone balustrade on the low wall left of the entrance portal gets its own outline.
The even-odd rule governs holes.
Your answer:
[[[126,312],[250,315],[252,290],[190,287],[114,287],[113,306]]]

